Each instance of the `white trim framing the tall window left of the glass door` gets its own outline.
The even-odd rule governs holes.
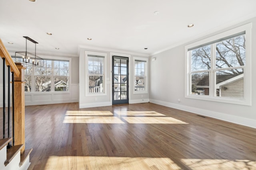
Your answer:
[[[104,56],[104,84],[103,84],[103,93],[89,93],[89,82],[88,82],[88,55],[98,55]],[[107,53],[100,53],[94,51],[85,51],[85,96],[106,96],[107,95],[107,86],[106,86],[106,73],[107,73]]]

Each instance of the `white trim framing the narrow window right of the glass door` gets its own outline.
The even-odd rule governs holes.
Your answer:
[[[135,66],[134,66],[134,63],[135,63],[135,60],[143,60],[143,61],[146,61],[146,72],[145,72],[145,83],[146,83],[146,86],[145,86],[145,91],[143,92],[140,92],[140,91],[135,91],[134,90],[134,82],[135,82],[135,72],[133,74],[133,82],[132,82],[132,87],[133,87],[133,94],[147,94],[148,93],[148,58],[143,58],[143,57],[133,57],[133,71],[135,70]]]

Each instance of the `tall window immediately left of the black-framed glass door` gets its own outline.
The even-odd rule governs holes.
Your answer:
[[[86,51],[86,95],[106,94],[105,74],[106,74],[106,53]]]

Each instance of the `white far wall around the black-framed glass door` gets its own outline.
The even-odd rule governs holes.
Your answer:
[[[94,52],[100,52],[100,53],[106,53],[107,54],[107,74],[106,78],[109,78],[109,81],[107,81],[107,86],[106,90],[107,93],[104,96],[86,96],[85,95],[85,89],[87,88],[86,86],[86,77],[85,77],[85,69],[87,69],[85,65],[85,51],[94,51]],[[112,105],[112,56],[110,54],[112,53],[120,53],[124,55],[130,55],[129,62],[130,62],[130,68],[129,68],[129,74],[130,74],[130,98],[129,98],[129,103],[143,103],[143,102],[148,102],[149,101],[149,94],[133,94],[133,57],[146,57],[148,58],[147,55],[142,55],[142,54],[135,54],[131,52],[126,52],[126,51],[115,51],[111,49],[92,49],[92,48],[80,48],[80,56],[79,56],[79,107],[80,108],[85,108],[85,107],[97,107],[97,106],[110,106]],[[122,55],[120,55],[122,56]]]

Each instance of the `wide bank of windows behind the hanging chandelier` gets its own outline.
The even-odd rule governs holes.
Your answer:
[[[42,67],[25,64],[25,92],[68,91],[70,61],[45,59]],[[16,62],[22,63],[22,57]]]

